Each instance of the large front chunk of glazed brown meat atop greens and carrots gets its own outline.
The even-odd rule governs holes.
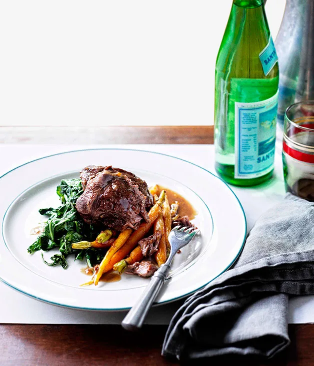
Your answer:
[[[142,219],[148,222],[145,197],[138,186],[126,175],[103,169],[86,167],[82,172],[86,180],[85,190],[76,201],[76,209],[88,224],[100,224],[122,231],[137,229]]]

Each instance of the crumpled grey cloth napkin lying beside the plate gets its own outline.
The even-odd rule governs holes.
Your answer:
[[[274,356],[289,344],[288,295],[314,294],[313,279],[314,203],[287,194],[257,220],[232,269],[176,312],[162,355]]]

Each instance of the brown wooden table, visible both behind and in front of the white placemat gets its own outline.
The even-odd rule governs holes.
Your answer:
[[[70,138],[68,137],[70,136]],[[86,141],[86,138],[88,141]],[[212,144],[212,126],[1,127],[0,143]],[[5,301],[5,299],[2,299]],[[25,309],[27,311],[27,309]],[[112,325],[0,325],[0,365],[178,365],[160,356],[166,326],[145,326],[136,334]],[[232,360],[204,365],[314,366],[314,325],[290,325],[291,346],[264,363]],[[99,341],[100,340],[100,341]],[[189,365],[196,365],[195,362]]]

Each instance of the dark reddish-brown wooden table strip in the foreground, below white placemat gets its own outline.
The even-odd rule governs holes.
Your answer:
[[[312,366],[314,326],[290,325],[287,352],[269,361],[211,360],[183,365]],[[1,325],[1,366],[164,366],[179,365],[160,356],[165,326],[128,333],[112,325]],[[182,363],[181,363],[182,364]]]

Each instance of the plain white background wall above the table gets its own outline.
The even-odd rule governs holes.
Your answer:
[[[231,2],[0,1],[0,125],[212,124]]]

